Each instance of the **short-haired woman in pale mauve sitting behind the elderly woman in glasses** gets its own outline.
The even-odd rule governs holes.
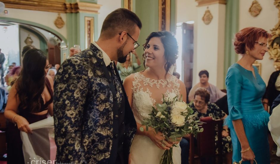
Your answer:
[[[214,103],[226,94],[222,92],[220,89],[217,88],[217,86],[214,86],[208,82],[209,80],[209,73],[206,70],[202,70],[199,72],[199,80],[200,82],[197,83],[195,86],[192,87],[192,89],[189,91],[189,102],[194,100],[195,90],[197,88],[205,88],[210,93],[210,103]]]

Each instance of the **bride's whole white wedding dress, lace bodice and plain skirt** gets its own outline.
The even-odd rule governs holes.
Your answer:
[[[140,72],[134,74],[132,111],[136,122],[141,123],[152,112],[152,106],[162,103],[165,98],[180,95],[180,84],[175,76],[166,80],[154,80],[144,77]],[[147,136],[135,135],[130,148],[130,164],[159,164],[164,150],[158,148]],[[173,163],[181,164],[181,148],[173,147]]]

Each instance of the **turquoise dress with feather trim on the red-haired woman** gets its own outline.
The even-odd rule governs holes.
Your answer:
[[[262,106],[265,93],[265,82],[253,66],[253,73],[235,63],[228,69],[225,85],[228,95],[228,112],[225,125],[231,130],[233,162],[241,160],[241,145],[232,125],[232,120],[242,119],[245,134],[258,164],[270,164],[270,153],[267,139],[269,114]],[[249,164],[245,161],[242,164]]]

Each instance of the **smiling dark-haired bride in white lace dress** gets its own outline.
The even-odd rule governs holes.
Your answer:
[[[169,72],[177,54],[178,44],[174,35],[167,31],[153,32],[144,44],[144,66],[148,68],[125,78],[125,91],[137,122],[136,135],[130,148],[130,164],[159,164],[164,150],[172,147],[161,132],[155,133],[151,127],[148,131],[140,131],[139,128],[143,126],[141,121],[152,112],[152,106],[162,103],[162,94],[165,98],[182,95],[186,102],[184,83]],[[172,158],[174,164],[181,164],[180,147],[173,147]]]

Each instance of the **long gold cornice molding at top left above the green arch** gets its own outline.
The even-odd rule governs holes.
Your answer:
[[[55,13],[98,13],[101,5],[77,2],[66,3],[65,0],[1,0],[7,8],[48,11]]]

